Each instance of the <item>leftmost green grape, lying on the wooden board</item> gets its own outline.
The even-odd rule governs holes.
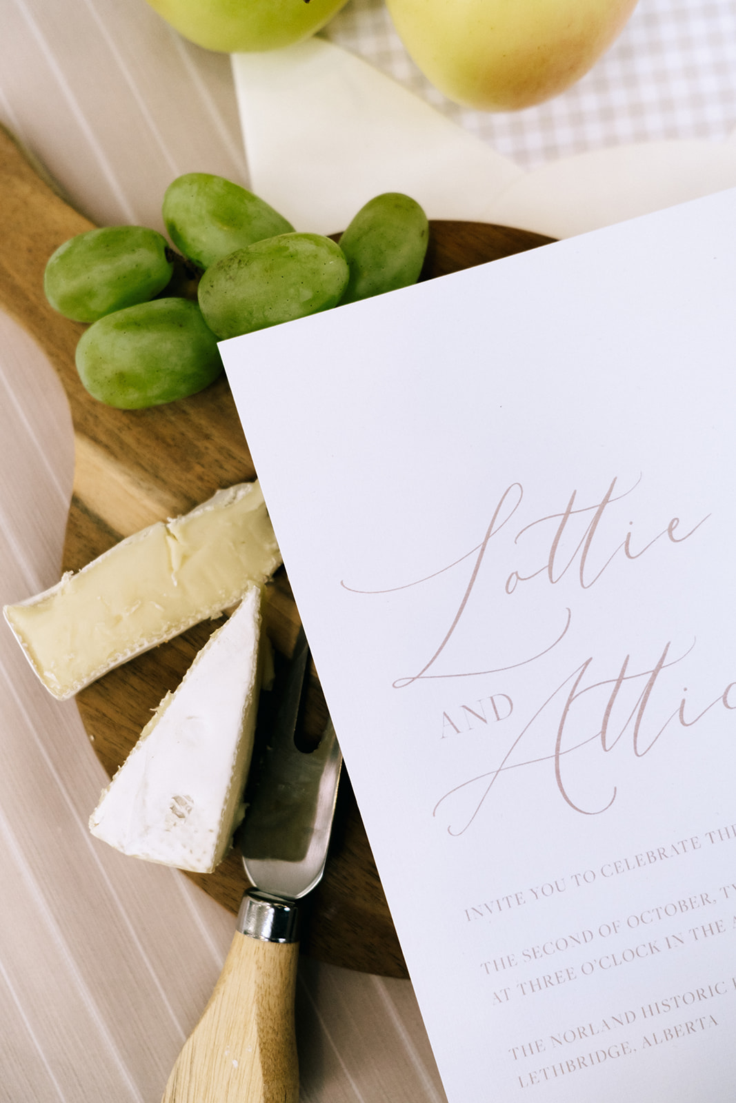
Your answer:
[[[162,234],[145,226],[104,226],[60,245],[46,265],[43,289],[60,314],[96,322],[152,299],[172,271]]]

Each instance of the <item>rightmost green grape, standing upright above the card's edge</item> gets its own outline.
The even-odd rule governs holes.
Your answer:
[[[340,238],[350,266],[341,303],[416,283],[428,239],[427,216],[415,200],[401,192],[370,200]]]

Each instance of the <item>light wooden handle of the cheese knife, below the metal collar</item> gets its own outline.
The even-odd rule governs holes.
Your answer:
[[[162,1103],[297,1103],[294,997],[299,945],[235,932]]]

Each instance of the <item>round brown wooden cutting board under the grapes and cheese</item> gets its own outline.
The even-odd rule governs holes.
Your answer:
[[[93,224],[44,182],[12,138],[0,130],[0,307],[36,340],[57,372],[74,425],[74,493],[63,554],[77,570],[121,537],[173,517],[218,488],[256,476],[225,377],[179,403],[116,410],[79,383],[74,351],[85,326],[49,307],[43,270],[53,250]],[[434,278],[550,238],[480,223],[433,222],[423,278]],[[274,413],[278,416],[277,396]],[[303,473],[303,472],[302,472]],[[28,595],[18,595],[19,599]],[[266,630],[288,655],[298,613],[281,569],[268,587]],[[111,671],[77,695],[92,746],[109,774],[125,760],[167,690],[181,681],[198,650],[222,621],[200,624]],[[312,715],[324,716],[319,686]],[[92,808],[89,810],[92,812]],[[238,855],[214,874],[192,876],[205,892],[237,911],[246,880]],[[431,886],[427,886],[429,893]],[[313,893],[302,949],[314,957],[363,972],[406,976],[406,967],[373,863],[350,781],[341,785],[324,878]]]

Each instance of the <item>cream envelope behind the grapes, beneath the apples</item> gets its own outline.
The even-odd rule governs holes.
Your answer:
[[[733,139],[617,146],[525,172],[321,39],[232,63],[252,186],[298,229],[343,229],[373,195],[404,191],[430,218],[570,237],[736,186]]]

